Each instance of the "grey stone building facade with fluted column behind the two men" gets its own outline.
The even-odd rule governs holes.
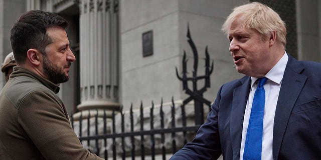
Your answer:
[[[67,32],[77,60],[59,93],[69,112],[121,105],[128,110],[130,103],[134,107],[139,107],[140,101],[157,104],[162,97],[170,102],[172,96],[180,101],[188,95],[175,67],[182,70],[186,50],[192,72],[193,54],[186,37],[189,24],[199,51],[199,74],[204,73],[206,46],[214,60],[211,88],[204,94],[213,101],[221,84],[242,76],[235,70],[229,41],[220,28],[234,6],[248,1],[0,0],[0,61],[11,51],[10,28],[22,12],[52,11],[71,22]],[[321,0],[258,1],[272,5],[283,19],[286,17],[290,54],[321,60]],[[152,41],[147,42],[152,52],[144,56],[146,32],[151,33]],[[0,75],[0,85],[4,84]]]

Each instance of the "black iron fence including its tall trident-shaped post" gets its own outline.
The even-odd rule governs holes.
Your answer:
[[[142,102],[139,111],[133,111],[131,105],[127,114],[122,109],[119,112],[118,110],[97,109],[76,113],[80,114],[79,117],[71,121],[84,146],[105,159],[126,159],[128,157],[135,159],[138,156],[139,159],[144,160],[146,155],[148,155],[148,159],[155,159],[157,155],[157,159],[165,160],[167,154],[174,154],[184,144],[192,140],[196,131],[204,122],[206,111],[203,104],[207,106],[206,109],[210,109],[211,102],[203,97],[203,93],[210,87],[213,61],[210,64],[210,56],[206,47],[205,74],[198,76],[198,51],[192,40],[189,26],[187,40],[194,56],[193,75],[190,77],[187,75],[186,51],[184,51],[182,61],[182,76],[180,76],[177,68],[176,74],[182,81],[183,89],[190,96],[183,100],[179,107],[175,106],[173,97],[170,111],[167,111],[166,114],[164,113],[163,100],[159,110],[156,110],[152,102],[148,110],[149,113],[147,111],[149,115],[146,116],[144,116]],[[199,80],[205,80],[204,86],[201,88],[197,87]],[[189,81],[193,84],[192,88],[188,85]],[[194,107],[187,106],[192,100],[194,101]],[[187,109],[192,110],[189,116],[186,114]],[[188,119],[189,123],[187,122]]]

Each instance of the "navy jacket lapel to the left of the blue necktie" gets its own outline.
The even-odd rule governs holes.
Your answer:
[[[250,92],[251,78],[245,76],[240,80],[241,84],[233,91],[231,109],[230,134],[234,159],[239,159],[242,140],[242,128],[246,102]]]

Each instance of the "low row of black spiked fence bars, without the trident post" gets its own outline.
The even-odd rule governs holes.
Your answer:
[[[129,119],[130,119],[130,131],[125,131],[125,114],[122,110],[118,112],[118,110],[100,110],[103,111],[103,116],[99,116],[98,112],[99,110],[96,110],[96,113],[94,116],[90,115],[93,112],[87,113],[87,118],[83,118],[84,114],[80,112],[80,118],[77,120],[79,122],[79,130],[75,130],[75,132],[78,132],[78,136],[80,141],[86,142],[87,146],[90,146],[94,144],[94,149],[90,150],[91,152],[96,153],[98,156],[104,157],[105,159],[111,158],[111,159],[125,159],[131,156],[131,159],[135,159],[136,156],[140,156],[141,159],[145,159],[145,156],[150,156],[151,159],[155,159],[155,155],[162,155],[162,159],[166,159],[166,154],[169,153],[175,153],[177,149],[177,134],[181,133],[183,135],[184,144],[188,142],[187,134],[195,134],[198,128],[200,127],[199,124],[188,126],[187,125],[187,117],[186,117],[186,106],[180,105],[179,109],[181,114],[176,114],[176,107],[175,102],[172,98],[172,105],[171,108],[171,125],[169,127],[165,127],[165,116],[163,111],[163,100],[161,102],[161,106],[159,107],[159,110],[155,110],[154,104],[152,103],[152,106],[149,108],[149,127],[146,129],[146,123],[144,125],[144,115],[143,115],[143,105],[141,103],[140,105],[140,115],[139,115],[139,123],[140,123],[140,129],[134,130],[134,111],[132,109],[132,105],[130,107],[129,111]],[[107,113],[111,111],[111,115],[108,115]],[[118,113],[116,113],[118,112]],[[157,114],[160,117],[160,123],[161,125],[159,127],[154,127],[154,116]],[[115,116],[120,116],[120,126],[121,131],[116,132],[116,119]],[[182,117],[182,123],[177,124],[176,123],[176,117]],[[90,118],[93,117],[93,118]],[[100,121],[103,122],[103,127],[98,126],[98,119],[100,118]],[[92,123],[92,120],[94,119],[94,127],[89,127]],[[111,122],[107,122],[108,120],[111,120]],[[74,127],[75,120],[71,118],[72,126]],[[83,128],[83,124],[86,124],[87,128]],[[108,126],[111,125],[111,126]],[[111,128],[110,130],[108,128]],[[91,129],[94,130],[94,134],[92,134]],[[83,131],[86,131],[87,134],[83,135]],[[102,132],[102,133],[100,133]],[[166,136],[166,135],[170,136]],[[161,148],[155,149],[155,136],[160,137],[160,145]],[[160,136],[159,136],[160,135]],[[135,136],[140,137],[140,141],[137,142],[137,138],[135,139]],[[129,137],[131,146],[130,151],[126,151],[125,149],[125,138]],[[116,138],[119,138],[120,140],[116,141]],[[150,144],[145,145],[144,141],[149,138]],[[166,148],[165,140],[166,138],[170,138],[170,141],[172,141],[172,146],[169,148]],[[182,137],[181,137],[182,138]],[[111,154],[110,151],[108,151],[108,139],[111,141]],[[102,140],[103,142],[100,142]],[[102,145],[101,145],[102,144]],[[116,150],[116,145],[120,146],[120,150]],[[136,147],[139,145],[139,149]],[[159,146],[159,145],[158,145]],[[182,146],[180,146],[182,147]],[[90,147],[88,147],[90,149]],[[119,147],[118,147],[119,148]],[[102,150],[103,149],[103,150]],[[118,153],[117,153],[118,152]]]

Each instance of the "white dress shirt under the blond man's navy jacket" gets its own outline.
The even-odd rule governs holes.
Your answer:
[[[286,52],[282,58],[272,67],[272,69],[265,75],[267,81],[264,84],[265,90],[265,106],[264,106],[264,117],[263,117],[263,139],[262,139],[262,159],[273,160],[272,154],[272,141],[273,141],[273,124],[274,124],[274,114],[276,109],[277,99],[279,97],[279,92],[281,88],[282,78],[284,70],[287,64],[288,56]],[[252,103],[254,93],[257,87],[257,77],[251,77],[252,85],[250,89],[250,94],[247,99],[244,120],[243,120],[243,130],[242,130],[242,141],[240,150],[240,160],[243,160],[243,152],[245,146],[245,139],[247,133],[247,127],[249,124],[249,119],[251,115]]]

